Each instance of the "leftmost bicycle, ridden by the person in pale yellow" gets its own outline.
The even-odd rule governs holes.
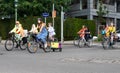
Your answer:
[[[15,45],[17,45],[21,50],[25,50],[27,48],[26,43],[23,43],[22,40],[18,40],[15,35],[15,33],[9,33],[9,37],[5,41],[5,49],[7,51],[12,51],[13,48],[15,48]]]

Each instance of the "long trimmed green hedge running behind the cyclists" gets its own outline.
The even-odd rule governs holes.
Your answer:
[[[38,16],[30,16],[25,18],[19,18],[18,20],[21,22],[24,29],[31,29],[32,24],[37,24]],[[44,20],[44,18],[42,18]],[[55,32],[56,37],[60,39],[61,35],[61,18],[55,18]],[[52,22],[52,18],[47,18],[47,23]],[[0,20],[0,36],[2,39],[6,39],[8,32],[14,27],[15,21],[14,19],[4,19]],[[64,40],[73,40],[75,36],[77,36],[77,32],[81,29],[82,25],[86,25],[89,27],[92,35],[95,34],[96,24],[92,20],[85,20],[79,18],[67,18],[64,21]]]

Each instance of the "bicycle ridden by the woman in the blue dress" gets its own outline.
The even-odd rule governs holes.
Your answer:
[[[47,39],[46,39],[47,40]],[[36,35],[28,33],[27,50],[29,53],[36,53],[38,48],[43,49],[44,52],[50,52],[50,46],[44,47],[44,43],[41,40],[36,40]]]

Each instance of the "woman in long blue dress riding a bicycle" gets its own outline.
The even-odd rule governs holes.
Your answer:
[[[41,18],[38,18],[37,28],[39,29],[39,32],[36,36],[36,39],[37,39],[37,41],[41,40],[44,44],[44,48],[47,48],[46,38],[47,38],[48,31],[46,28],[46,24],[42,22]]]

